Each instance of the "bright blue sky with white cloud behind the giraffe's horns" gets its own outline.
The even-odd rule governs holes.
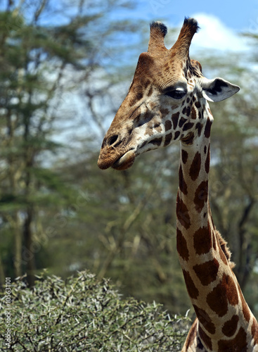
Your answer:
[[[194,17],[200,25],[198,35],[193,38],[193,51],[203,48],[247,51],[247,39],[238,34],[258,35],[258,0],[138,0],[136,8],[117,8],[111,18],[162,20],[168,27],[180,30],[185,16]],[[173,43],[166,37],[165,44]]]

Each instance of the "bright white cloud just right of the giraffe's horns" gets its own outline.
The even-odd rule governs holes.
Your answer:
[[[248,49],[244,37],[226,27],[219,18],[207,13],[195,13],[192,16],[198,20],[200,30],[193,37],[192,48],[216,49],[221,51],[246,51]]]

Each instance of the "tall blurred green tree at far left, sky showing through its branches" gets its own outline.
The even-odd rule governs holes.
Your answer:
[[[101,13],[96,8],[108,10],[113,6],[112,1],[101,5],[63,1],[67,7],[60,11],[59,5],[55,7],[46,0],[37,4],[9,1],[6,11],[0,13],[2,261],[9,276],[20,276],[25,270],[31,286],[39,267],[35,256],[42,247],[42,219],[49,215],[50,208],[55,215],[56,207],[72,203],[74,191],[49,167],[51,161],[47,162],[60,150],[60,144],[53,140],[53,130],[60,121],[58,109],[65,105],[62,94],[65,89],[75,91],[75,84],[82,78],[89,82],[91,72],[100,71],[96,59],[100,53],[94,44],[97,33],[91,37],[88,31],[100,21]],[[68,11],[72,14],[65,18]],[[60,24],[50,24],[57,14],[62,15]],[[117,27],[111,23],[104,29],[98,26],[98,44],[113,32],[120,32],[123,24],[130,30],[127,23],[118,23]],[[12,243],[10,256],[7,251]]]

